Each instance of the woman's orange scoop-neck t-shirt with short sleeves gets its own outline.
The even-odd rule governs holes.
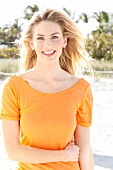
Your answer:
[[[72,140],[77,124],[91,125],[92,103],[90,84],[83,78],[62,92],[49,94],[33,89],[14,75],[4,81],[0,110],[3,118],[20,120],[21,144],[62,150]],[[17,169],[80,170],[78,162],[19,162]]]

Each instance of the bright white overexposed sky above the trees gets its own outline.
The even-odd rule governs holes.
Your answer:
[[[10,24],[16,18],[24,16],[24,9],[30,5],[36,4],[39,9],[54,8],[63,9],[75,12],[77,17],[80,13],[93,14],[93,12],[113,12],[113,0],[2,0],[0,3],[0,26]],[[87,26],[85,29],[92,29],[96,23],[90,21],[90,28]],[[79,24],[82,28],[82,23]]]

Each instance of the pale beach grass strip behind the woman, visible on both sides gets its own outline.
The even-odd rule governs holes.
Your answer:
[[[113,61],[97,61],[93,62],[94,77],[113,78]],[[18,59],[0,59],[0,79],[14,74],[19,71]]]

